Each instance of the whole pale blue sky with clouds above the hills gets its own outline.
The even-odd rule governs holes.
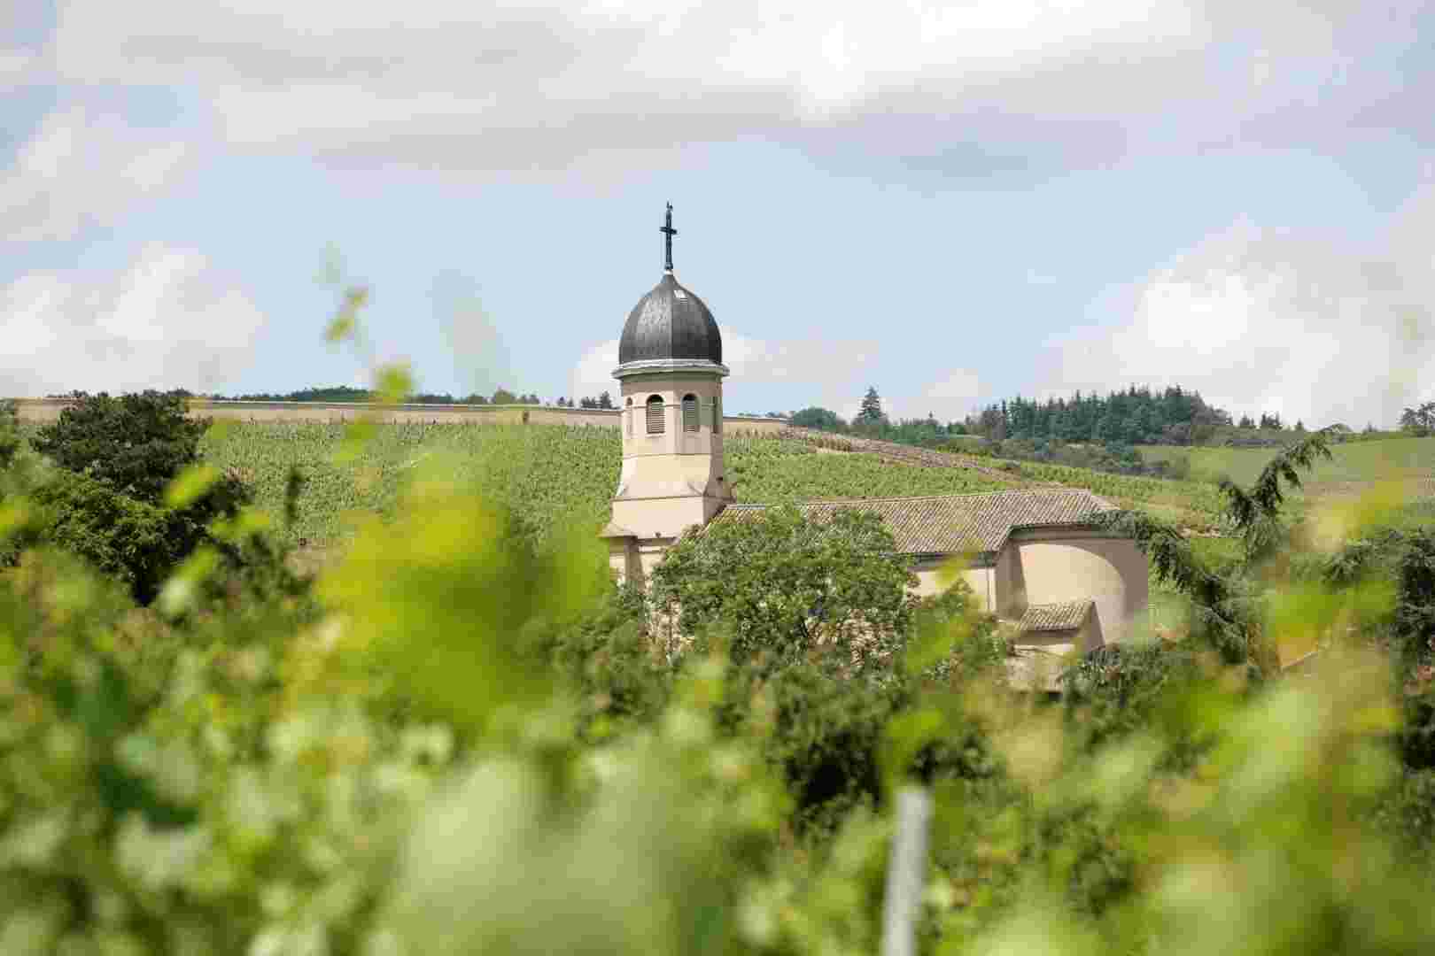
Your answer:
[[[0,396],[616,390],[672,202],[732,411],[1393,426],[1431,103],[1429,0],[0,0]]]

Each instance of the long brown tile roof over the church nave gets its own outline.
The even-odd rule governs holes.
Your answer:
[[[740,522],[768,505],[729,505],[713,520]],[[904,555],[954,555],[996,552],[1012,529],[1081,525],[1092,512],[1115,506],[1085,489],[1023,489],[983,494],[933,494],[926,497],[868,497],[844,502],[799,502],[809,519],[838,509],[881,515]]]

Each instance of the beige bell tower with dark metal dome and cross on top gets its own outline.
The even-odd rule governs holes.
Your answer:
[[[610,563],[643,579],[687,527],[733,500],[722,454],[722,335],[673,277],[673,206],[660,229],[663,278],[629,312],[618,343],[623,472],[604,529]]]

